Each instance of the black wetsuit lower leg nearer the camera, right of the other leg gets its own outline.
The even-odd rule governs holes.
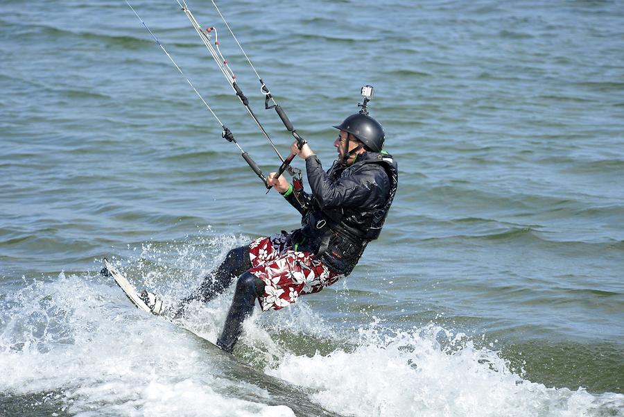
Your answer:
[[[243,332],[243,321],[254,311],[256,298],[264,293],[264,282],[249,272],[244,272],[236,281],[232,306],[229,307],[223,332],[217,339],[217,346],[232,353],[236,341]]]

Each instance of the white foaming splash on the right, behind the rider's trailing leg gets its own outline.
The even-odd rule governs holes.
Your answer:
[[[624,395],[592,395],[523,379],[498,352],[436,325],[387,334],[362,329],[356,348],[284,355],[266,372],[318,390],[349,416],[566,416],[617,412]]]

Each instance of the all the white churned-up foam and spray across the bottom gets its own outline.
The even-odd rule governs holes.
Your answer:
[[[236,241],[208,239],[213,263]],[[148,260],[167,253],[161,244],[144,246],[125,270],[171,302],[197,274],[163,262],[201,257],[181,251]],[[206,260],[196,262],[191,269]],[[185,324],[215,341],[231,296],[191,305]],[[601,416],[624,407],[621,394],[531,382],[522,364],[483,344],[435,323],[396,330],[375,319],[340,332],[302,301],[245,323],[236,355],[252,368],[241,368],[175,325],[141,314],[109,280],[61,273],[0,299],[0,392],[29,412],[117,416]],[[291,401],[257,370],[284,381],[275,383]]]

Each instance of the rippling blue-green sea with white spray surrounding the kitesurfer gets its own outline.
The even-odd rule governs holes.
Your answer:
[[[177,3],[132,5],[275,170]],[[218,5],[325,166],[374,85],[400,177],[380,239],[257,309],[234,358],[141,314],[103,257],[173,303],[300,219],[124,1],[1,1],[0,416],[624,416],[624,2]],[[288,153],[212,3],[189,8]],[[185,325],[215,341],[231,297]]]

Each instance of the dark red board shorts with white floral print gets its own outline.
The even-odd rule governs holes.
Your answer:
[[[249,246],[252,268],[248,272],[265,284],[264,294],[258,297],[263,312],[286,307],[297,297],[318,293],[343,277],[329,271],[312,253],[293,250],[291,240],[291,234],[282,231]]]

